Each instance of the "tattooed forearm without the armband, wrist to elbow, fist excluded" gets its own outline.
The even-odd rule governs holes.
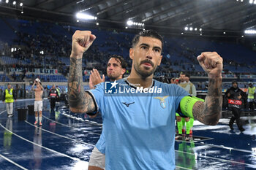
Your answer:
[[[83,90],[82,58],[70,58],[68,97],[72,112],[95,111],[93,98]]]

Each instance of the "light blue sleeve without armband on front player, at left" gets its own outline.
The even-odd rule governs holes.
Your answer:
[[[105,88],[104,88],[105,82],[101,82],[98,85],[96,85],[94,89],[91,90],[86,90],[88,92],[92,99],[94,100],[94,104],[96,107],[95,112],[101,112],[102,116],[104,114],[104,93],[105,93]]]

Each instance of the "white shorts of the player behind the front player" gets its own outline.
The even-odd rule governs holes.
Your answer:
[[[99,152],[97,147],[91,152],[89,166],[97,166],[101,169],[105,169],[105,154]]]

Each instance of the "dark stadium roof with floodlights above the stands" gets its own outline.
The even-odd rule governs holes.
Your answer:
[[[82,11],[97,20],[79,20],[80,23],[98,23],[107,28],[125,28],[131,20],[135,25],[128,28],[241,36],[246,29],[256,27],[256,0],[16,0],[15,5],[13,0],[8,4],[6,1],[0,2],[1,13],[70,23],[77,22],[76,13]],[[19,7],[20,2],[23,7]],[[184,29],[186,26],[188,30]]]

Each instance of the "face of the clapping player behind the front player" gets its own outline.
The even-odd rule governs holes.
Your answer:
[[[107,74],[111,81],[122,78],[125,69],[121,67],[121,61],[118,58],[110,58],[107,66]]]

